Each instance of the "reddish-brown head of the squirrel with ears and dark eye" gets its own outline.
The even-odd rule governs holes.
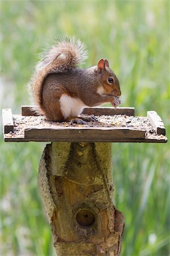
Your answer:
[[[100,94],[121,96],[119,80],[114,72],[109,68],[109,61],[101,59],[98,61],[95,72],[99,76],[102,87],[98,88]]]

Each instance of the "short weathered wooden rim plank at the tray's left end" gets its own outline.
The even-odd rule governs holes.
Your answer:
[[[11,109],[2,109],[3,133],[14,130],[13,114]]]

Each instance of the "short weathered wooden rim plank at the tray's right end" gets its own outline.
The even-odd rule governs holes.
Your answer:
[[[165,135],[165,127],[160,116],[155,111],[148,111],[147,117],[150,119],[151,124],[154,126],[156,133]]]

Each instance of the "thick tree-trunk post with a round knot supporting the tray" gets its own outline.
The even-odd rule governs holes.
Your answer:
[[[38,187],[57,256],[120,255],[124,217],[113,201],[111,143],[47,144]]]

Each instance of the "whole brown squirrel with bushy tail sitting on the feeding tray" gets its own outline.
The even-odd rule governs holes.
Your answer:
[[[111,102],[117,108],[121,104],[119,81],[107,59],[99,60],[94,67],[77,67],[86,53],[84,44],[76,38],[56,40],[42,53],[28,84],[36,113],[49,121],[84,124],[96,121],[94,115],[79,116],[84,107]]]

